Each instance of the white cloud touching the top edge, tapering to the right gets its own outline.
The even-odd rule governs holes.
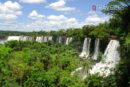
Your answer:
[[[75,7],[66,6],[66,2],[64,0],[58,0],[57,2],[53,2],[46,7],[62,12],[71,12],[76,10]]]

